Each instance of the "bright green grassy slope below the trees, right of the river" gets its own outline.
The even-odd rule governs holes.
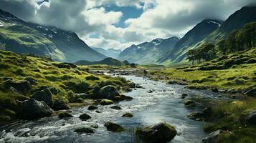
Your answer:
[[[151,71],[154,76],[165,76],[186,81],[189,87],[246,90],[256,87],[256,49],[240,51],[195,66]]]

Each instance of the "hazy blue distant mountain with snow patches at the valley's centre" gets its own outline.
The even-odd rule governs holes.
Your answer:
[[[144,42],[138,45],[132,45],[123,50],[118,59],[128,60],[131,63],[152,64],[157,59],[174,48],[174,45],[179,41],[179,38],[173,36],[169,39],[153,39],[152,41]]]

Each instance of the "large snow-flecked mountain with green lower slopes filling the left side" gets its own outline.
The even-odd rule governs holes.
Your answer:
[[[33,24],[0,10],[0,49],[16,54],[49,56],[56,61],[99,61],[106,56],[91,49],[77,34]]]

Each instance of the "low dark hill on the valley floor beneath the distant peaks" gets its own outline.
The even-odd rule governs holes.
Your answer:
[[[113,59],[113,58],[106,58],[103,59],[102,61],[86,61],[86,60],[81,60],[75,62],[77,65],[93,65],[93,64],[106,64],[110,66],[125,66],[125,65],[130,65],[128,61],[118,61],[118,59]]]

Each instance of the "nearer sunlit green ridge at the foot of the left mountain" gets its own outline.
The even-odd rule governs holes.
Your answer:
[[[0,28],[0,48],[16,54],[34,53],[63,60],[64,56],[57,47],[39,31],[27,26],[14,25]]]

